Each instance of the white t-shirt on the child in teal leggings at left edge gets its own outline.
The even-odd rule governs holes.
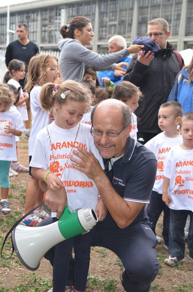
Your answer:
[[[0,112],[0,122],[9,121],[9,126],[25,131],[20,112],[15,106],[12,106],[8,111]],[[14,134],[3,133],[0,128],[0,160],[17,161],[16,153],[16,136]]]

